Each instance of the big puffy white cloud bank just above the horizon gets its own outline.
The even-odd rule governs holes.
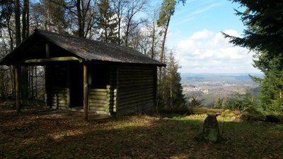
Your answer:
[[[238,35],[236,30],[224,33]],[[248,49],[234,47],[222,33],[202,30],[178,42],[177,58],[181,72],[191,73],[255,73],[253,53]]]

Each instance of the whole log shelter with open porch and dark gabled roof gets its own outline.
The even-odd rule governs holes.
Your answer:
[[[165,66],[129,47],[43,30],[35,30],[0,64],[16,68],[17,107],[19,66],[45,66],[47,105],[57,109],[83,106],[86,118],[88,113],[154,110],[157,66]]]

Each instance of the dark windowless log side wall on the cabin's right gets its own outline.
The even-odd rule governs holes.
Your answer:
[[[152,112],[156,103],[156,66],[118,66],[117,114]]]

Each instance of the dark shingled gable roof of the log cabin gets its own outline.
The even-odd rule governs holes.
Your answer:
[[[10,65],[15,62],[17,57],[28,56],[28,53],[21,54],[21,52],[27,48],[27,45],[32,47],[33,42],[38,40],[45,40],[53,43],[84,61],[106,61],[126,64],[151,64],[156,66],[165,66],[165,64],[151,59],[130,47],[98,42],[96,40],[89,40],[70,35],[62,35],[44,30],[35,30],[35,32],[24,40],[21,45],[7,54],[6,57],[2,58],[0,60],[0,64]]]

